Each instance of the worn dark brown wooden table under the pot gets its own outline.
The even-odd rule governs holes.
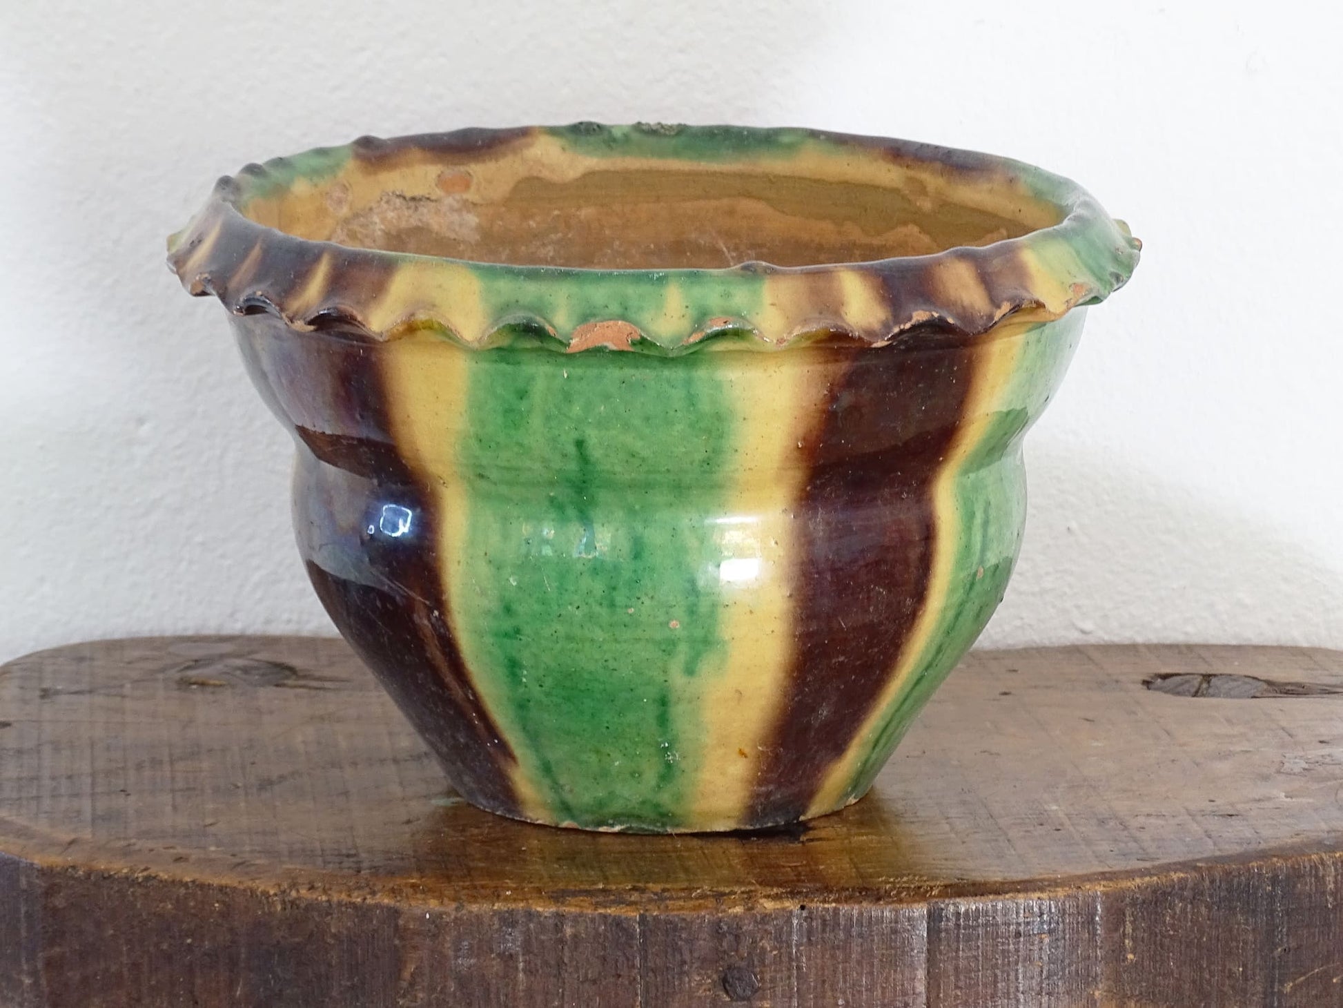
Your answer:
[[[1340,1005],[1340,688],[978,652],[851,809],[641,837],[463,805],[336,640],[50,650],[0,669],[0,1005]]]

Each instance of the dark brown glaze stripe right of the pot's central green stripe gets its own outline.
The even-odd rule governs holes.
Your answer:
[[[933,484],[967,399],[971,352],[847,352],[808,446],[791,687],[755,784],[756,825],[807,810],[913,632],[932,571]],[[870,450],[857,454],[858,445]]]

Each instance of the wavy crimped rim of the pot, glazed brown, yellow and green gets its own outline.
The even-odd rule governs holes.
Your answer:
[[[470,165],[540,146],[594,165],[676,159],[783,171],[803,157],[861,160],[893,179],[917,173],[962,195],[1011,192],[1052,208],[1058,222],[982,247],[868,262],[612,270],[353,247],[246,215],[259,200],[344,171],[430,160]],[[189,293],[214,294],[235,314],[274,314],[299,332],[338,329],[381,341],[434,329],[469,348],[532,343],[677,353],[982,336],[1009,316],[1045,321],[1104,300],[1132,276],[1140,247],[1084,188],[1006,157],[806,129],[575,124],[363,137],[247,165],[220,179],[204,210],[169,238],[168,263]]]

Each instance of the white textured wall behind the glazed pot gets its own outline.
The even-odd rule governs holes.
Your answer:
[[[1147,242],[1027,445],[986,641],[1343,646],[1336,5],[616,0],[0,4],[0,659],[328,632],[290,446],[164,235],[360,133],[813,125],[979,148]]]

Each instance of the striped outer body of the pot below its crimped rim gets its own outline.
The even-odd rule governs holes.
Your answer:
[[[269,398],[309,575],[463,797],[759,828],[861,797],[983,629],[1076,329],[686,367],[407,339],[360,351],[349,434]]]

